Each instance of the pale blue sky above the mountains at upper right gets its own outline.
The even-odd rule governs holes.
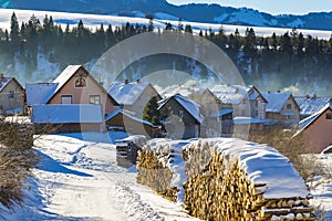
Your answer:
[[[169,3],[218,3],[235,8],[252,8],[271,14],[305,14],[332,11],[331,0],[167,0]]]

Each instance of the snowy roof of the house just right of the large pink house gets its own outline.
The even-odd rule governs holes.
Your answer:
[[[114,82],[108,90],[108,94],[120,105],[133,105],[148,85],[149,83],[145,82],[131,82],[127,84]]]

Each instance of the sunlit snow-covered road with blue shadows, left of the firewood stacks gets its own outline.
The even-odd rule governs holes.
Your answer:
[[[24,207],[7,220],[195,220],[178,204],[136,183],[135,168],[116,166],[114,140],[124,134],[45,135]],[[85,140],[83,140],[83,138]]]

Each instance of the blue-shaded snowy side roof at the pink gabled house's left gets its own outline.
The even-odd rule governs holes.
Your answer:
[[[54,94],[58,83],[27,84],[27,103],[29,106],[46,104]]]

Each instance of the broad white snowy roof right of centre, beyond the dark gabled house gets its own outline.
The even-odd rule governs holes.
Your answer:
[[[211,92],[224,104],[239,104],[252,87],[253,86],[220,84],[214,86]]]

